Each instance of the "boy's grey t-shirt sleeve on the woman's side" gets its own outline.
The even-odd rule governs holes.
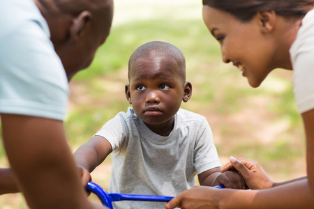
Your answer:
[[[213,134],[206,119],[203,121],[195,141],[194,167],[197,175],[209,169],[221,167]]]

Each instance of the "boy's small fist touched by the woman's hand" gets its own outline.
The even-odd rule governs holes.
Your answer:
[[[213,183],[213,186],[224,185],[231,189],[245,189],[246,183],[241,174],[237,171],[225,171],[221,173]]]

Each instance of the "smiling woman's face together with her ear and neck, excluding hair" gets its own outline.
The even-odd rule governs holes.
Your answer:
[[[259,12],[243,21],[225,10],[203,7],[204,22],[220,43],[223,61],[239,68],[253,87],[260,86],[275,68],[292,69],[286,61],[289,59],[287,42],[294,40],[301,19],[287,20],[277,15],[275,22],[269,15]]]

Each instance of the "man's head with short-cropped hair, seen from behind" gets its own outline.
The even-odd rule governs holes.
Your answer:
[[[87,68],[110,33],[112,0],[35,0],[68,79]]]

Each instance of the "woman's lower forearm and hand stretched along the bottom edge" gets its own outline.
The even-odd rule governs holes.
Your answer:
[[[193,187],[175,196],[165,208],[313,208],[313,201],[304,179],[262,190]]]

